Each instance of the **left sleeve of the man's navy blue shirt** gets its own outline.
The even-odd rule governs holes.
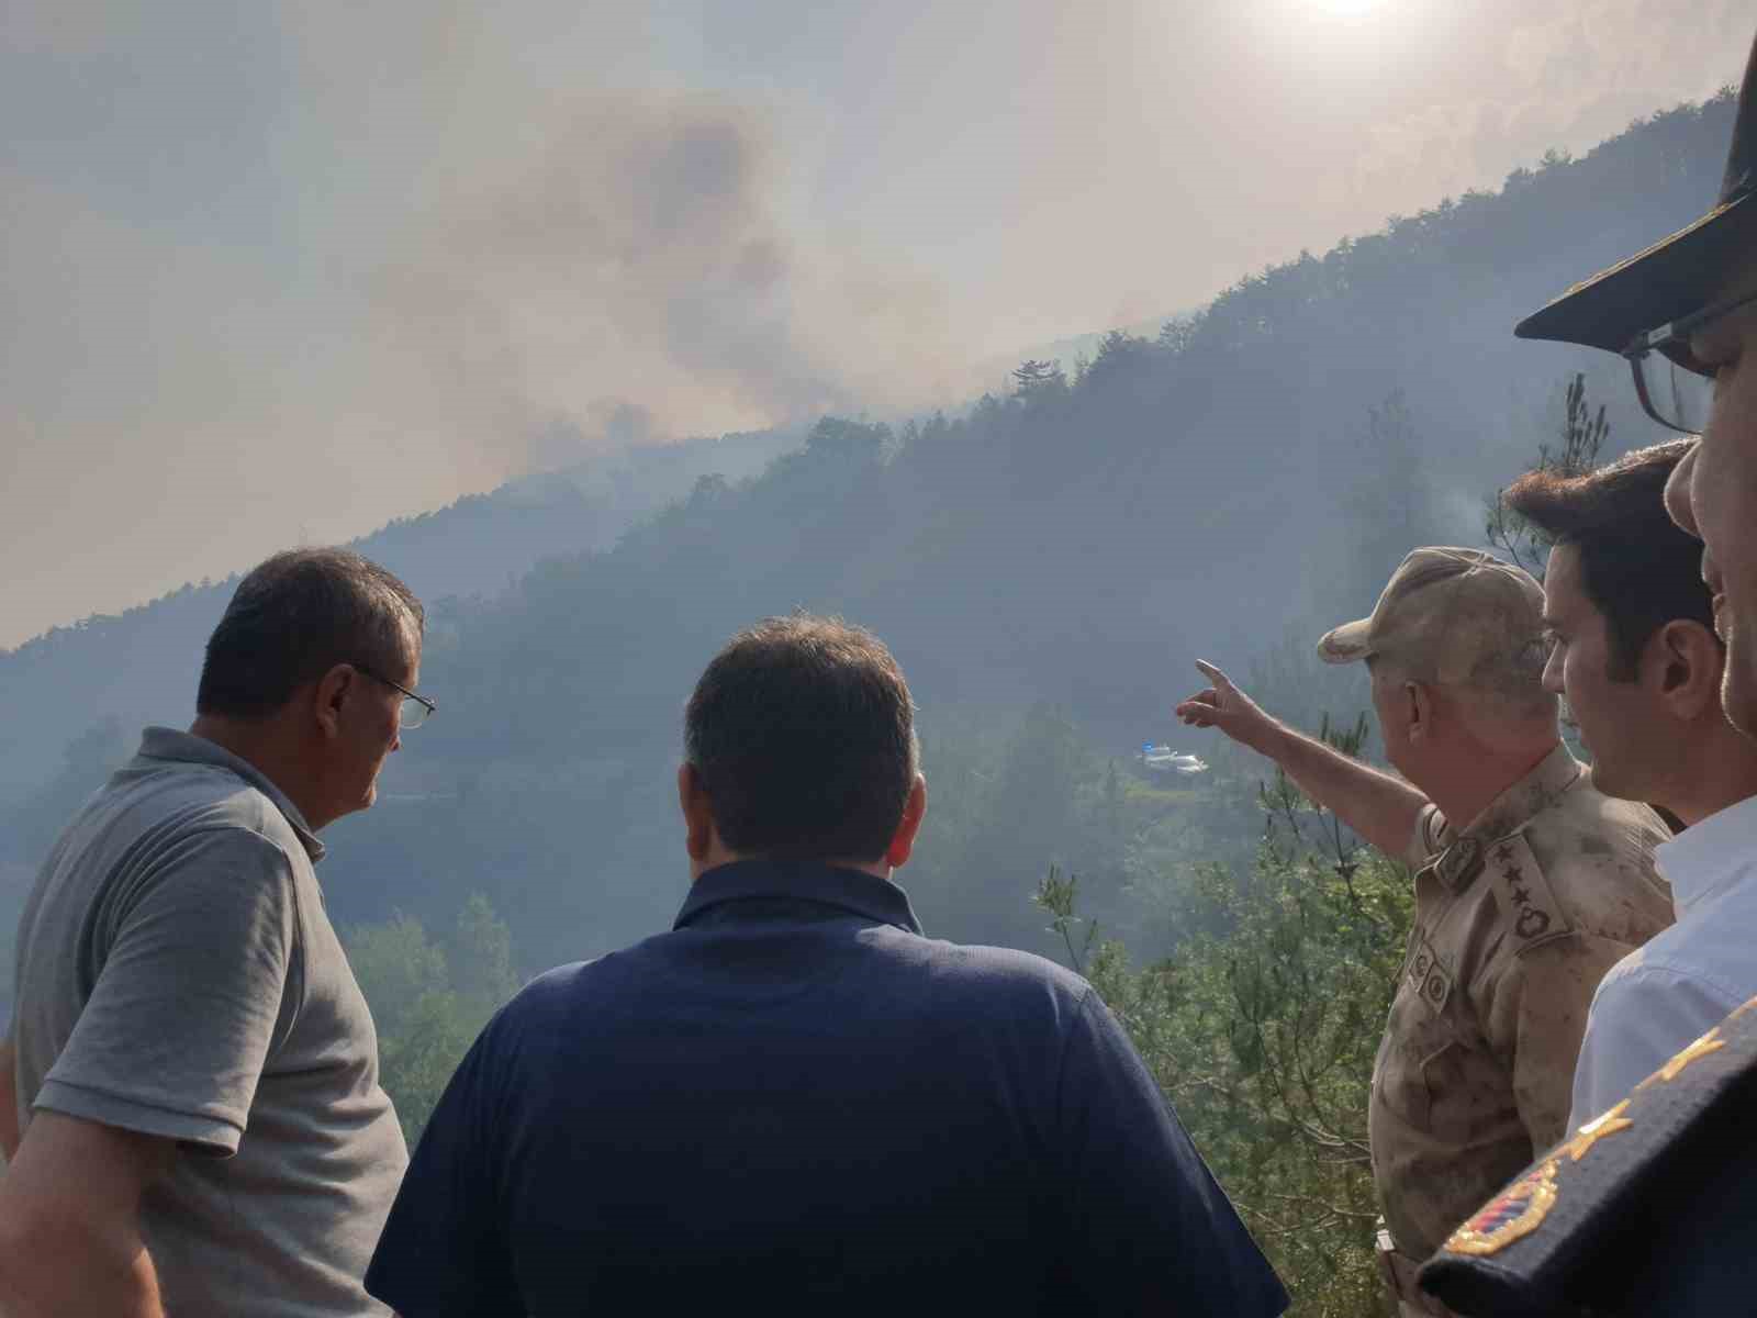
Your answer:
[[[401,1318],[524,1318],[504,1230],[494,1126],[506,1010],[478,1035],[427,1119],[365,1269]]]

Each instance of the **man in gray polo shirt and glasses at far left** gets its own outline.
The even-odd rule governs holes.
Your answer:
[[[56,842],[0,1044],[0,1313],[385,1313],[360,1278],[408,1153],[313,863],[432,710],[422,622],[358,554],[269,559],[190,731]]]

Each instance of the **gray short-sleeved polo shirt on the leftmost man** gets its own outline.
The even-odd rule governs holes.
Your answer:
[[[387,1313],[360,1286],[408,1163],[378,1035],[292,801],[148,728],[25,903],[18,1105],[163,1135],[142,1206],[167,1313]]]

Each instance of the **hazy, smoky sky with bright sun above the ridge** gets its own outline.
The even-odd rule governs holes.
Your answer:
[[[0,0],[0,645],[594,445],[954,401],[1699,100],[1752,23]]]

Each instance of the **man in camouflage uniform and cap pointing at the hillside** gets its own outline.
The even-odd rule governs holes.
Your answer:
[[[1406,1314],[1444,1313],[1416,1267],[1562,1137],[1599,979],[1671,923],[1653,868],[1666,826],[1597,793],[1562,747],[1541,613],[1518,568],[1420,548],[1372,617],[1320,641],[1328,663],[1367,663],[1400,778],[1270,719],[1207,664],[1212,685],[1177,706],[1416,870],[1369,1114],[1381,1264]]]

